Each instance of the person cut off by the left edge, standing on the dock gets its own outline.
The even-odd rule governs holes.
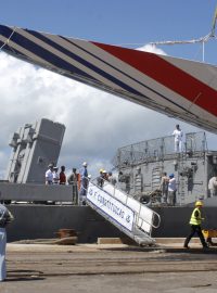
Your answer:
[[[7,230],[5,227],[13,220],[12,214],[9,209],[0,204],[0,282],[7,278],[7,263],[5,263],[5,249],[7,249]]]

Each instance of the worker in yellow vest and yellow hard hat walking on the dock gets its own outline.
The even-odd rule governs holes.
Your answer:
[[[201,240],[201,244],[203,245],[203,247],[208,247],[202,229],[201,229],[201,222],[204,218],[202,218],[202,213],[201,213],[201,208],[203,206],[203,203],[201,201],[195,202],[195,208],[192,212],[191,218],[190,218],[190,225],[191,225],[191,233],[187,237],[183,246],[186,249],[189,249],[189,242],[191,241],[192,237],[197,233],[200,240]]]

